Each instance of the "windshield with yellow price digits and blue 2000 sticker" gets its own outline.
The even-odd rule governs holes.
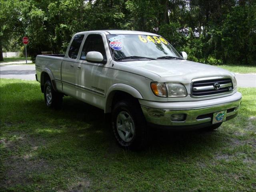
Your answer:
[[[161,36],[107,35],[114,60],[183,59]]]

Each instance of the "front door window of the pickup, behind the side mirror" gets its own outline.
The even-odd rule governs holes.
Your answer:
[[[86,60],[86,54],[90,51],[97,51],[103,55],[102,63],[106,63],[107,56],[102,36],[99,34],[90,34],[84,42],[84,47],[81,53],[81,60]]]

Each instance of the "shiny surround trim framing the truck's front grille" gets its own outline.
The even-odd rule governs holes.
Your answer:
[[[235,89],[234,89],[234,86],[233,86],[233,90],[227,91],[227,92],[224,92],[224,93],[211,94],[211,95],[203,95],[203,96],[193,96],[193,87],[192,87],[193,82],[204,81],[204,80],[215,80],[215,79],[219,80],[219,79],[225,79],[225,78],[230,78],[230,80],[231,80],[231,82],[233,84],[233,77],[232,76],[215,76],[215,77],[204,77],[204,78],[192,79],[191,83],[190,83],[190,97],[192,97],[192,98],[214,97],[214,96],[225,95],[225,94],[229,94],[229,93],[234,92]]]

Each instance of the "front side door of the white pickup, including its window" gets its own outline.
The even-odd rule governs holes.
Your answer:
[[[100,52],[104,58],[102,62],[86,61],[86,54],[90,51]],[[102,108],[106,94],[106,50],[101,34],[89,34],[82,48],[80,61],[76,65],[76,86],[78,97],[89,104]]]

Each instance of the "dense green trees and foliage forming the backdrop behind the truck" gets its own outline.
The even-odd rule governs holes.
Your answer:
[[[188,59],[256,65],[255,0],[1,0],[1,48],[30,38],[32,58],[64,53],[72,35],[125,29],[164,36]]]

